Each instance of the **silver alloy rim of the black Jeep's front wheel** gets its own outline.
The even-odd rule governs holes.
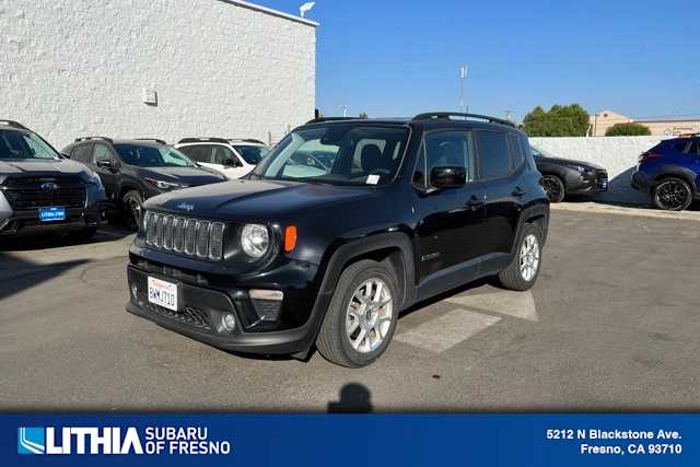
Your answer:
[[[372,352],[386,340],[392,327],[394,300],[382,279],[369,279],[352,294],[346,312],[346,334],[360,353]]]

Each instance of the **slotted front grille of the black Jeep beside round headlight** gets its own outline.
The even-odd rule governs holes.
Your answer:
[[[145,244],[166,252],[220,260],[223,255],[222,222],[147,212]]]

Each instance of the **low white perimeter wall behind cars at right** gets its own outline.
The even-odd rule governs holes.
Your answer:
[[[649,195],[635,191],[630,177],[639,155],[656,145],[662,137],[600,138],[530,138],[529,143],[559,157],[593,162],[608,171],[610,187],[599,199],[633,205],[646,205]]]

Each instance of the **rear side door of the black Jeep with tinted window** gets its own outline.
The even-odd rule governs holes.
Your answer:
[[[508,254],[515,242],[520,201],[525,196],[517,175],[525,160],[522,144],[512,144],[509,135],[498,130],[476,130],[475,142],[479,180],[487,191],[487,250],[493,255]]]

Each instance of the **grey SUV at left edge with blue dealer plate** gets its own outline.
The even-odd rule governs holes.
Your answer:
[[[89,240],[104,199],[94,172],[24,125],[0,120],[0,235],[61,231]]]

